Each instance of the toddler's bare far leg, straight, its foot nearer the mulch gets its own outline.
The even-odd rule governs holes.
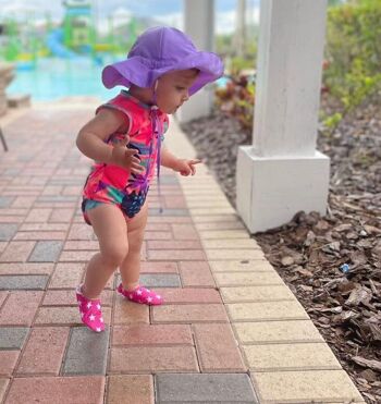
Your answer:
[[[148,204],[127,223],[128,254],[120,266],[122,284],[125,290],[133,290],[139,283],[140,250],[144,231],[147,224]]]

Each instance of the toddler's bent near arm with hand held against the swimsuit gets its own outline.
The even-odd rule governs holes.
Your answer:
[[[142,173],[144,167],[140,166],[140,160],[135,157],[136,150],[125,147],[130,142],[128,136],[118,145],[105,143],[112,133],[125,133],[126,126],[125,118],[121,112],[101,109],[79,131],[76,145],[85,156],[93,160],[130,169],[134,173]]]

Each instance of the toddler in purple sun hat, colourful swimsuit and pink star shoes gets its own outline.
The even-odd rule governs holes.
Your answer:
[[[126,60],[102,71],[107,88],[126,89],[100,106],[76,139],[78,149],[96,161],[84,186],[82,211],[98,237],[99,253],[76,289],[82,321],[96,332],[105,330],[99,295],[118,267],[116,291],[127,301],[163,302],[138,283],[149,184],[156,168],[159,179],[160,166],[195,174],[199,160],[179,159],[161,147],[168,114],[222,72],[217,54],[197,51],[186,35],[170,27],[146,30]]]

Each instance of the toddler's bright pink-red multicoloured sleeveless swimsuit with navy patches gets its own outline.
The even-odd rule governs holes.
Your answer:
[[[121,111],[126,117],[128,130],[126,133],[113,133],[106,140],[110,147],[130,136],[128,148],[137,150],[143,174],[134,174],[118,166],[96,162],[88,175],[84,192],[82,211],[85,221],[90,224],[87,211],[100,204],[116,205],[126,218],[133,218],[143,207],[150,181],[157,166],[160,169],[160,148],[163,133],[168,128],[168,115],[156,107],[145,105],[122,90],[115,98],[100,106]]]

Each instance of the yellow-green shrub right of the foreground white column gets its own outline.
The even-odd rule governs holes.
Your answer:
[[[323,81],[344,114],[381,84],[380,21],[379,0],[351,1],[328,11]]]

